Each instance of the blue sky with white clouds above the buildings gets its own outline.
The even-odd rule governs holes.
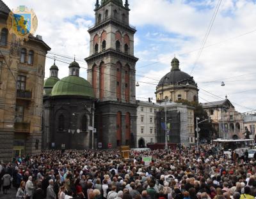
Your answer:
[[[68,64],[76,55],[86,78],[89,54],[88,27],[93,25],[95,0],[4,0],[11,8],[25,5],[38,17],[36,34],[63,55],[56,59],[60,77],[68,75]],[[198,59],[205,33],[218,0],[129,0],[130,22],[136,26],[135,56],[137,98],[152,97],[158,80],[170,71],[174,55],[180,68],[191,73],[200,89],[199,100],[225,98],[240,112],[256,112],[256,1],[223,0],[205,48]],[[53,57],[53,54],[48,54]],[[68,59],[67,57],[70,57]],[[47,58],[45,76],[53,61]],[[221,87],[220,82],[225,82]],[[142,82],[148,82],[145,84]]]

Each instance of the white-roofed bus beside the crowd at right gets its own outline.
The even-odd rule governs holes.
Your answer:
[[[227,140],[227,139],[217,139],[212,141],[216,144],[218,151],[223,150],[223,154],[227,154],[231,157],[231,151],[235,151],[239,158],[244,155],[244,152],[255,147],[255,142],[253,139],[238,139],[238,140]]]

